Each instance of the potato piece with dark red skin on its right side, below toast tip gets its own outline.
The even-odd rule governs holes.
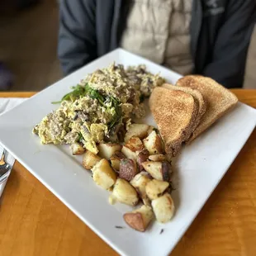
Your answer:
[[[170,164],[167,161],[164,162],[153,162],[147,161],[142,163],[143,168],[147,171],[153,178],[160,181],[169,182],[170,180]]]

